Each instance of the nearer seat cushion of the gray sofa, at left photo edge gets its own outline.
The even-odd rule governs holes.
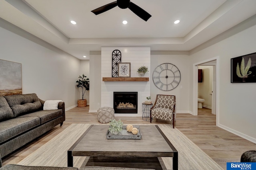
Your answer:
[[[0,143],[40,125],[38,117],[14,118],[0,122]]]

